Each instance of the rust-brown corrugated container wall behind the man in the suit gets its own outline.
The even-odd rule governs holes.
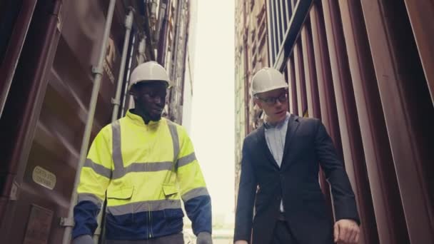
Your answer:
[[[360,243],[434,243],[433,1],[267,7],[270,62],[291,113],[321,118],[345,161]]]

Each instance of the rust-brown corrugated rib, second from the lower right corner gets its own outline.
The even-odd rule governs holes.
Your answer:
[[[340,1],[340,13],[348,50],[360,131],[369,175],[365,194],[360,194],[364,207],[360,213],[365,223],[378,228],[365,228],[366,243],[408,243],[403,207],[400,204],[387,129],[378,93],[372,56],[363,13],[357,2]],[[369,195],[367,195],[369,194]],[[372,194],[372,199],[366,198]],[[373,201],[373,210],[368,203]],[[375,215],[373,212],[375,211]],[[375,220],[376,219],[376,220]],[[375,223],[376,221],[376,223]],[[370,231],[371,233],[366,233]],[[375,236],[378,235],[378,236]]]

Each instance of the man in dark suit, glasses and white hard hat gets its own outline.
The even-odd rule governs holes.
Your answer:
[[[357,243],[360,220],[343,163],[321,121],[287,112],[287,87],[273,68],[253,77],[252,94],[266,123],[244,139],[234,241]],[[334,226],[318,183],[319,166],[330,183]]]

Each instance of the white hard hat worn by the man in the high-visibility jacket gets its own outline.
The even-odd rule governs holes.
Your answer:
[[[136,83],[146,81],[163,81],[168,84],[168,87],[173,86],[166,69],[156,61],[141,63],[134,68],[133,73],[131,73],[128,90]]]

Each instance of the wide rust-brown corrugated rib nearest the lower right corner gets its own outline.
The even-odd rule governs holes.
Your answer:
[[[402,1],[362,7],[410,242],[433,243],[432,185],[424,169],[432,169],[434,112],[410,22]]]

